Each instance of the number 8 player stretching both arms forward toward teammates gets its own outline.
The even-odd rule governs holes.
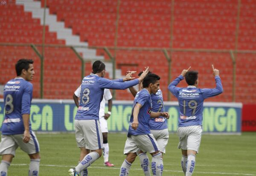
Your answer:
[[[80,103],[74,122],[76,142],[81,150],[80,163],[69,170],[70,176],[76,176],[82,170],[87,170],[87,167],[102,155],[103,140],[99,127],[99,106],[104,89],[127,89],[139,84],[147,75],[148,68],[138,79],[131,78],[131,74],[128,74],[124,79],[111,81],[103,78],[105,72],[105,63],[95,61],[92,73],[82,80]],[[83,174],[87,175],[87,172]]]

